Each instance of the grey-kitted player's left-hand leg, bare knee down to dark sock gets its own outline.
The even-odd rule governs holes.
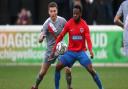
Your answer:
[[[35,85],[32,87],[32,89],[38,89],[38,86],[40,84],[40,82],[43,80],[45,74],[47,73],[49,67],[50,67],[50,63],[43,63],[42,66],[41,66],[41,69],[40,69],[40,72],[37,76],[37,79],[36,79],[36,83]]]

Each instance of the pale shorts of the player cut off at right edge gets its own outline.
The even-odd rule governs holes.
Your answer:
[[[123,44],[124,44],[124,53],[125,56],[128,56],[128,30],[124,30],[123,33]]]

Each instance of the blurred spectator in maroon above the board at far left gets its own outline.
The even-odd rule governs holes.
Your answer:
[[[18,25],[29,25],[32,24],[31,12],[25,8],[21,9],[21,12],[18,14],[18,19],[16,21]]]

